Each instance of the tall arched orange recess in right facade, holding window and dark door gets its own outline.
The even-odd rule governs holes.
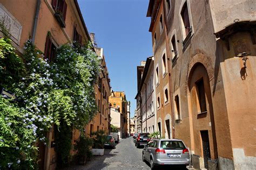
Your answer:
[[[202,63],[194,63],[187,83],[190,95],[194,153],[204,158],[205,168],[208,168],[208,159],[217,159],[218,152],[210,79]]]

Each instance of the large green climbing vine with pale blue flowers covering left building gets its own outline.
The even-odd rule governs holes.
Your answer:
[[[35,167],[35,143],[47,144],[45,134],[53,124],[59,161],[65,164],[72,127],[82,129],[97,112],[93,84],[99,61],[91,46],[63,45],[55,62],[43,58],[31,40],[19,57],[9,39],[0,39],[0,87],[22,98],[14,103],[0,96],[0,167]]]

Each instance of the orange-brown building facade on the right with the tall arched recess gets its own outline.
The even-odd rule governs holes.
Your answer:
[[[163,120],[170,117],[170,137],[190,148],[194,168],[256,167],[256,23],[250,6],[255,2],[149,2],[156,79],[159,76],[157,124],[166,128]],[[168,83],[170,103],[165,106],[161,91]],[[165,133],[161,131],[166,138]]]

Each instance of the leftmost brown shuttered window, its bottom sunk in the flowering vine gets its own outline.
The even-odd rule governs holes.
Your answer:
[[[46,37],[44,58],[49,61],[54,61],[56,58],[57,47],[52,43],[50,36]]]

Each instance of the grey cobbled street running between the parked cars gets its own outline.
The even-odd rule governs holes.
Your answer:
[[[103,156],[95,156],[86,165],[71,166],[68,169],[150,169],[142,161],[143,148],[136,148],[132,137],[120,139],[116,148],[106,149]]]

